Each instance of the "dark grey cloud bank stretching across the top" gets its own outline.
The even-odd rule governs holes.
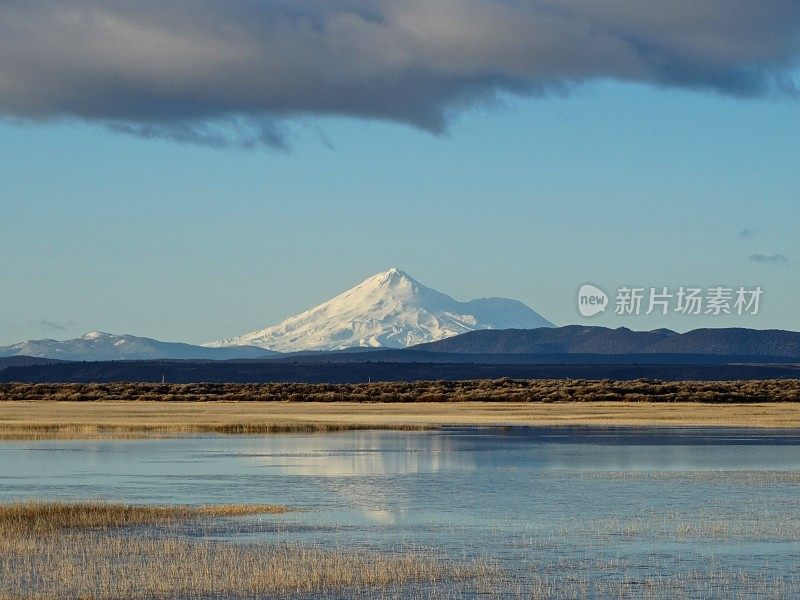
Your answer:
[[[280,146],[594,79],[796,93],[797,0],[0,0],[0,115]]]

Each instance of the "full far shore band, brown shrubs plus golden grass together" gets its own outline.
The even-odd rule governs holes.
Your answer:
[[[800,380],[5,384],[0,439],[447,426],[800,428]]]

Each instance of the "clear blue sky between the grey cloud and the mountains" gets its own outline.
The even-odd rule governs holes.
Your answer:
[[[95,329],[204,342],[389,266],[557,324],[798,329],[798,117],[786,97],[605,82],[504,97],[439,135],[292,120],[288,151],[6,121],[0,343]],[[586,282],[764,295],[758,316],[589,320]]]

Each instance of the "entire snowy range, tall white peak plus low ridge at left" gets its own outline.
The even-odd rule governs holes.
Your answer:
[[[72,340],[0,346],[0,357],[69,361],[263,358],[304,350],[404,348],[476,329],[552,326],[517,300],[458,302],[403,271],[389,269],[278,325],[203,346],[93,331]]]

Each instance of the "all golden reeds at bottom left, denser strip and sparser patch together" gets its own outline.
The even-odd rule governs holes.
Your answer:
[[[494,567],[421,552],[376,555],[191,540],[112,529],[276,513],[271,505],[126,506],[28,502],[0,507],[0,598],[198,598],[319,595],[490,577]]]

